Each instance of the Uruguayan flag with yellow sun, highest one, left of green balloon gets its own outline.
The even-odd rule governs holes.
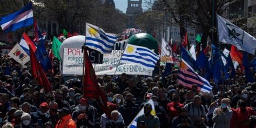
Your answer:
[[[111,53],[117,36],[98,26],[86,23],[86,46],[101,53]]]

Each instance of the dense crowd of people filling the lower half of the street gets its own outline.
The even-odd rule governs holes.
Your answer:
[[[178,69],[164,76],[97,76],[107,98],[107,115],[98,99],[83,97],[82,78],[60,75],[59,61],[46,72],[52,92],[45,93],[30,73],[7,56],[0,61],[1,127],[125,127],[141,109],[137,127],[255,127],[256,83],[246,83],[241,70],[232,79],[215,84],[210,94],[177,83]],[[254,73],[255,74],[255,73]],[[255,78],[255,76],[254,76]],[[152,99],[154,106],[147,103]]]

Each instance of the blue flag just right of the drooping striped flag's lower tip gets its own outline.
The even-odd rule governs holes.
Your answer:
[[[212,77],[215,84],[222,83],[224,80],[230,78],[221,59],[218,59],[217,62],[213,64]]]

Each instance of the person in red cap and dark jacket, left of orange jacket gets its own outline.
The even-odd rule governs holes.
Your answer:
[[[50,115],[46,113],[49,110],[49,105],[46,102],[43,102],[40,106],[37,112],[31,113],[31,123],[32,124],[38,124],[38,120],[42,119],[42,123],[48,122],[50,119]]]

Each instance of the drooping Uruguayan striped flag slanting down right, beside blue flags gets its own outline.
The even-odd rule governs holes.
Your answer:
[[[180,69],[178,73],[178,83],[188,88],[192,88],[193,84],[197,84],[200,92],[210,93],[212,86],[203,77],[197,75],[197,73],[188,65],[184,59],[181,59]]]

